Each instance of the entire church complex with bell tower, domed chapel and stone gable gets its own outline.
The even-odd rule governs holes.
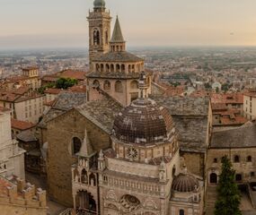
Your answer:
[[[50,198],[77,214],[202,214],[208,100],[154,97],[119,18],[110,34],[110,12],[95,0],[87,19],[86,102],[44,116]]]

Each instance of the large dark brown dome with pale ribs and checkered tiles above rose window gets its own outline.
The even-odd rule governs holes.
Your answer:
[[[114,135],[121,142],[152,144],[165,142],[173,128],[172,116],[152,99],[137,99],[114,121]]]

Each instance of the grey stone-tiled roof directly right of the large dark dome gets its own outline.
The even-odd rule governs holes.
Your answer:
[[[162,95],[152,98],[169,109],[178,130],[181,151],[205,152],[209,99]]]

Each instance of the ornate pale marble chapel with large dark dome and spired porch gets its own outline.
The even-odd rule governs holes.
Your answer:
[[[199,180],[181,170],[177,130],[167,108],[140,98],[115,117],[111,146],[99,157],[84,132],[72,168],[77,214],[203,214]]]

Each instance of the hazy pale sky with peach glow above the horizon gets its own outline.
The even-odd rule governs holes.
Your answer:
[[[256,46],[256,0],[106,0],[128,46]],[[0,49],[87,47],[93,0],[0,0]],[[112,22],[112,27],[114,20]]]

